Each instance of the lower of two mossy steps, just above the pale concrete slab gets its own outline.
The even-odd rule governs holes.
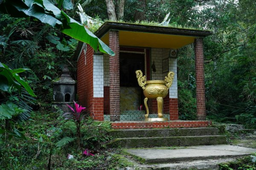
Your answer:
[[[227,144],[226,137],[222,135],[207,136],[175,136],[175,137],[151,137],[151,138],[116,138],[107,147],[169,147]]]

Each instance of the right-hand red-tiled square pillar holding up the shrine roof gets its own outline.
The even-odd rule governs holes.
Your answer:
[[[196,78],[197,118],[200,121],[205,121],[206,113],[205,113],[203,38],[195,39],[195,78]]]

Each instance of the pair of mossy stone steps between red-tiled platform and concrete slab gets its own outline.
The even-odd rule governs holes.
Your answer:
[[[117,137],[107,147],[169,147],[226,144],[226,137],[217,128],[111,130]]]

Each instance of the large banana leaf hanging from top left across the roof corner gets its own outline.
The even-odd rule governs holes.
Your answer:
[[[92,32],[73,18],[69,17],[64,11],[58,9],[48,0],[26,0],[24,2],[22,0],[18,2],[3,1],[2,3],[2,12],[6,12],[13,16],[19,13],[19,17],[35,17],[42,23],[47,23],[52,27],[59,28],[61,32],[66,35],[90,44],[90,46],[95,50],[99,46],[99,51],[108,53],[109,55],[114,55],[113,51],[98,37],[93,35]],[[69,9],[71,9],[70,6],[67,5],[70,3],[64,3],[64,5],[65,4]],[[60,6],[58,7],[60,8]]]

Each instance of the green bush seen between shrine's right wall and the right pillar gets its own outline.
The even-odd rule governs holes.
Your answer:
[[[192,92],[185,88],[185,84],[178,81],[178,108],[180,120],[196,120],[196,99]]]

